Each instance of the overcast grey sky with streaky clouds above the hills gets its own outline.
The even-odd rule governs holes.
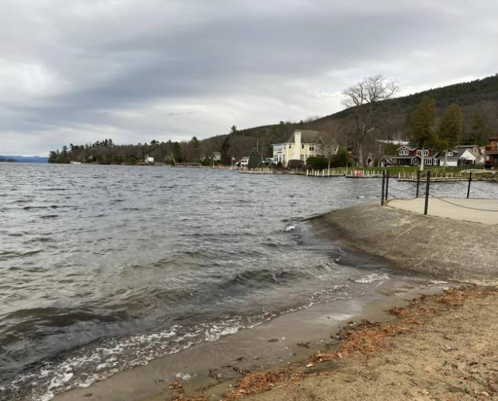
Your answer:
[[[1,0],[0,154],[199,138],[498,72],[496,0]]]

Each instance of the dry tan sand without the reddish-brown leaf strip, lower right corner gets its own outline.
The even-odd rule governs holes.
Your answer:
[[[488,290],[477,287],[462,302],[429,301],[435,314],[418,317],[381,350],[318,363],[302,380],[244,399],[498,400],[498,290]]]

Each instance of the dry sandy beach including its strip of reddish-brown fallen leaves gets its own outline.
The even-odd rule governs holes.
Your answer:
[[[496,287],[422,295],[383,321],[349,322],[302,363],[148,400],[497,400],[497,300]]]

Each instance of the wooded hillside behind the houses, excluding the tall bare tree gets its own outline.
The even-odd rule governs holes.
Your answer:
[[[446,87],[430,89],[413,95],[387,100],[383,104],[389,111],[389,122],[370,133],[366,150],[377,152],[374,139],[409,139],[409,116],[424,95],[435,100],[438,119],[452,103],[462,107],[463,144],[485,144],[488,137],[498,133],[498,74],[462,82]],[[139,163],[146,155],[161,162],[209,163],[212,152],[221,152],[223,163],[249,155],[258,146],[263,156],[271,156],[270,145],[282,141],[296,128],[323,130],[334,135],[341,146],[355,151],[358,139],[355,134],[354,117],[351,109],[345,109],[321,117],[300,122],[280,122],[238,130],[236,126],[227,129],[227,134],[204,140],[193,137],[185,142],[159,142],[152,139],[148,144],[115,145],[111,140],[75,146],[70,144],[62,150],[50,152],[52,163],[69,161],[97,163]],[[199,133],[201,135],[203,133]]]

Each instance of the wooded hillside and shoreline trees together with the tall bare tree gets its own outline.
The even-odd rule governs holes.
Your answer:
[[[436,144],[432,137],[427,140],[427,146],[442,148],[444,139],[448,147],[454,144],[453,134],[449,134],[453,128],[448,128],[448,120],[453,121],[453,117],[443,116],[446,109],[451,110],[447,112],[449,115],[461,113],[462,129],[458,128],[457,135],[460,144],[482,146],[490,135],[498,132],[498,74],[400,98],[395,97],[396,93],[396,82],[374,76],[346,89],[343,92],[346,108],[326,117],[310,117],[299,122],[281,121],[242,130],[232,126],[225,135],[202,140],[197,137],[190,141],[152,139],[147,144],[117,145],[111,139],[104,139],[93,144],[69,144],[51,151],[49,162],[137,164],[143,163],[148,155],[159,163],[208,165],[212,163],[214,152],[220,152],[220,163],[231,165],[233,159],[238,161],[249,156],[253,148],[258,149],[262,159],[271,157],[271,144],[284,142],[296,129],[310,129],[333,135],[341,147],[356,154],[361,164],[367,154],[373,154],[374,158],[382,156],[376,139],[411,139],[414,144],[421,144],[418,136],[422,128],[416,126],[414,116],[425,98],[433,99],[435,113],[431,126],[435,137],[441,139]],[[457,106],[460,111],[457,111]],[[443,128],[434,130],[433,127],[440,125]]]

